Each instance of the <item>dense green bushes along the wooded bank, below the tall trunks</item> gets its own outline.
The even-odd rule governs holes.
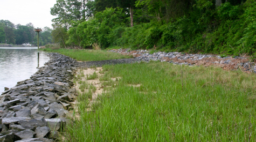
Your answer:
[[[121,8],[107,8],[87,21],[78,21],[68,30],[67,44],[84,48],[97,44],[101,48],[119,46],[232,55],[255,53],[256,2],[253,0],[228,1],[218,7],[215,1],[196,0],[191,2],[188,11],[183,10],[183,16],[172,19],[167,18],[168,9],[154,16],[152,11],[161,12],[164,6],[159,5],[163,2],[158,3],[158,7],[150,4],[150,0],[137,4],[133,27],[129,27],[129,13]]]

